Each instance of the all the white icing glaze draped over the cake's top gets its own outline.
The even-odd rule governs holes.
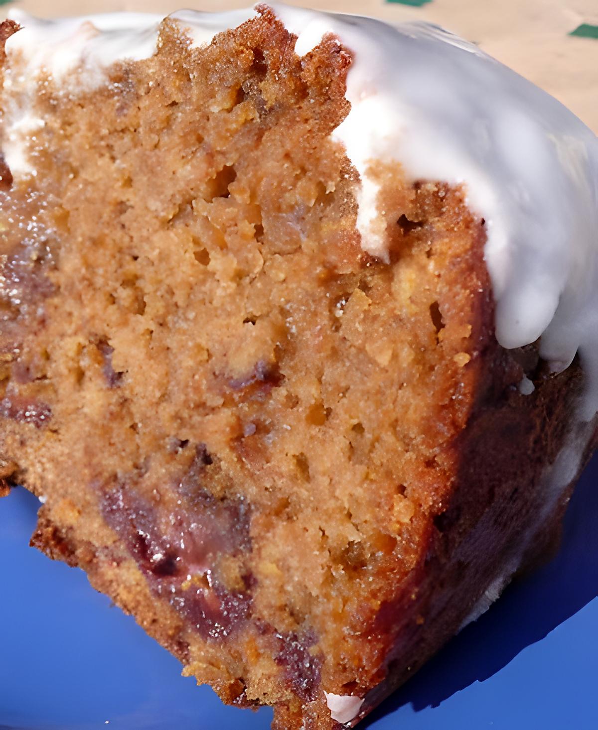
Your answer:
[[[353,51],[348,118],[334,131],[361,176],[357,191],[362,246],[385,258],[378,185],[369,161],[396,160],[412,179],[462,184],[472,211],[486,220],[486,264],[497,304],[497,339],[521,347],[541,337],[555,371],[579,351],[589,381],[580,418],[598,410],[598,141],[547,93],[475,45],[436,26],[391,27],[369,18],[272,6],[309,53],[326,33]],[[193,43],[252,17],[255,10],[171,17]],[[141,13],[35,20],[12,10],[24,30],[7,41],[26,75],[40,69],[77,83],[156,49],[160,16]],[[25,78],[25,81],[27,79]],[[5,85],[19,80],[7,73]],[[15,99],[18,98],[15,93]],[[23,145],[39,120],[25,99],[5,115],[4,154],[13,175],[34,174]]]

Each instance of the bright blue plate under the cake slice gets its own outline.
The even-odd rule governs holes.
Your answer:
[[[224,707],[87,582],[28,548],[38,502],[0,500],[0,730],[267,730]],[[598,457],[559,556],[380,707],[371,730],[596,730]]]

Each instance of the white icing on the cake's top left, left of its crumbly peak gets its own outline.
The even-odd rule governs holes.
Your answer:
[[[169,18],[180,24],[193,45],[204,45],[215,34],[254,15],[252,7],[223,13],[180,10]],[[164,15],[112,12],[46,20],[11,9],[8,17],[21,29],[7,39],[5,47],[9,64],[4,74],[4,158],[14,177],[35,176],[26,148],[44,122],[31,113],[36,96],[31,82],[47,77],[65,88],[101,85],[108,66],[117,61],[142,61],[156,52]]]

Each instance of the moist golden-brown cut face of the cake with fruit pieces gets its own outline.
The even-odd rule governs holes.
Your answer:
[[[372,161],[390,253],[364,253],[350,64],[267,9],[199,48],[166,20],[106,83],[43,82],[37,175],[1,180],[2,475],[45,501],[34,542],[280,728],[383,680],[486,397],[483,220]]]

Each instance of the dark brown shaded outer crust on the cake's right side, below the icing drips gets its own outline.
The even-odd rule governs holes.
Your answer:
[[[505,359],[511,359],[501,348],[494,350],[492,390],[505,372]],[[491,372],[488,366],[486,374]],[[581,442],[576,474],[558,485],[558,496],[551,494],[551,464],[570,446],[583,374],[576,363],[535,384],[532,396],[507,387],[502,397],[486,399],[456,443],[454,491],[434,520],[413,575],[415,592],[399,591],[387,609],[405,619],[389,624],[384,679],[367,696],[360,718],[459,630],[495,578],[504,577],[506,584],[558,545],[572,488],[598,441],[598,422],[585,447]]]

